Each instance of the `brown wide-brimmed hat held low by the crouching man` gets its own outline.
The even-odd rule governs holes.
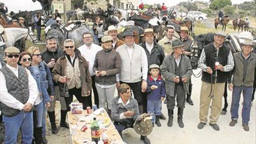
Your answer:
[[[150,114],[143,113],[134,122],[134,131],[142,136],[148,136],[153,130]]]

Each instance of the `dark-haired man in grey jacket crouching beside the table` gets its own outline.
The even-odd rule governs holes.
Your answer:
[[[132,128],[135,120],[139,117],[138,102],[131,97],[131,88],[123,83],[117,88],[118,97],[115,97],[111,105],[111,118],[114,121],[115,128],[122,137],[122,131]],[[145,144],[150,144],[147,136],[141,136]]]

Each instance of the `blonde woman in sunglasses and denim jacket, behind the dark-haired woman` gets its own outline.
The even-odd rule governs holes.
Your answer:
[[[42,61],[40,50],[37,47],[30,47],[29,49],[27,49],[27,52],[32,56],[31,65],[39,68],[45,87],[46,89],[49,88],[50,100],[53,100],[55,95],[55,89],[54,89],[54,84],[51,77],[51,71],[47,66],[47,64],[45,63],[45,61]],[[46,109],[50,107],[50,102],[44,103],[43,105],[44,105],[44,111],[43,111],[43,120],[42,120],[42,127],[43,127],[42,135],[43,135],[43,141],[47,141],[45,138],[46,136],[45,117],[46,117]]]

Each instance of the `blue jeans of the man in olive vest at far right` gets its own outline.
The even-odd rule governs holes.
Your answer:
[[[253,87],[246,86],[233,86],[232,92],[232,103],[231,103],[231,118],[233,120],[238,119],[238,109],[241,92],[243,91],[243,109],[242,109],[242,121],[244,124],[248,124],[250,121],[250,111],[251,111],[251,100]]]

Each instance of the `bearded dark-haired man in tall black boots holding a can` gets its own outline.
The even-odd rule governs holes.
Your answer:
[[[57,39],[54,36],[49,36],[45,39],[46,43],[46,51],[42,53],[43,60],[47,63],[48,67],[50,68],[50,71],[53,70],[53,67],[55,65],[55,62],[62,56],[63,50],[58,49],[57,46]],[[55,121],[55,104],[56,100],[59,100],[61,103],[61,123],[60,127],[69,128],[66,123],[66,114],[67,114],[67,108],[64,97],[60,97],[60,91],[58,83],[55,83],[54,81],[54,87],[55,87],[55,97],[51,98],[51,106],[48,109],[48,115],[51,122],[51,131],[53,134],[58,134],[58,130],[56,127],[56,121]]]

